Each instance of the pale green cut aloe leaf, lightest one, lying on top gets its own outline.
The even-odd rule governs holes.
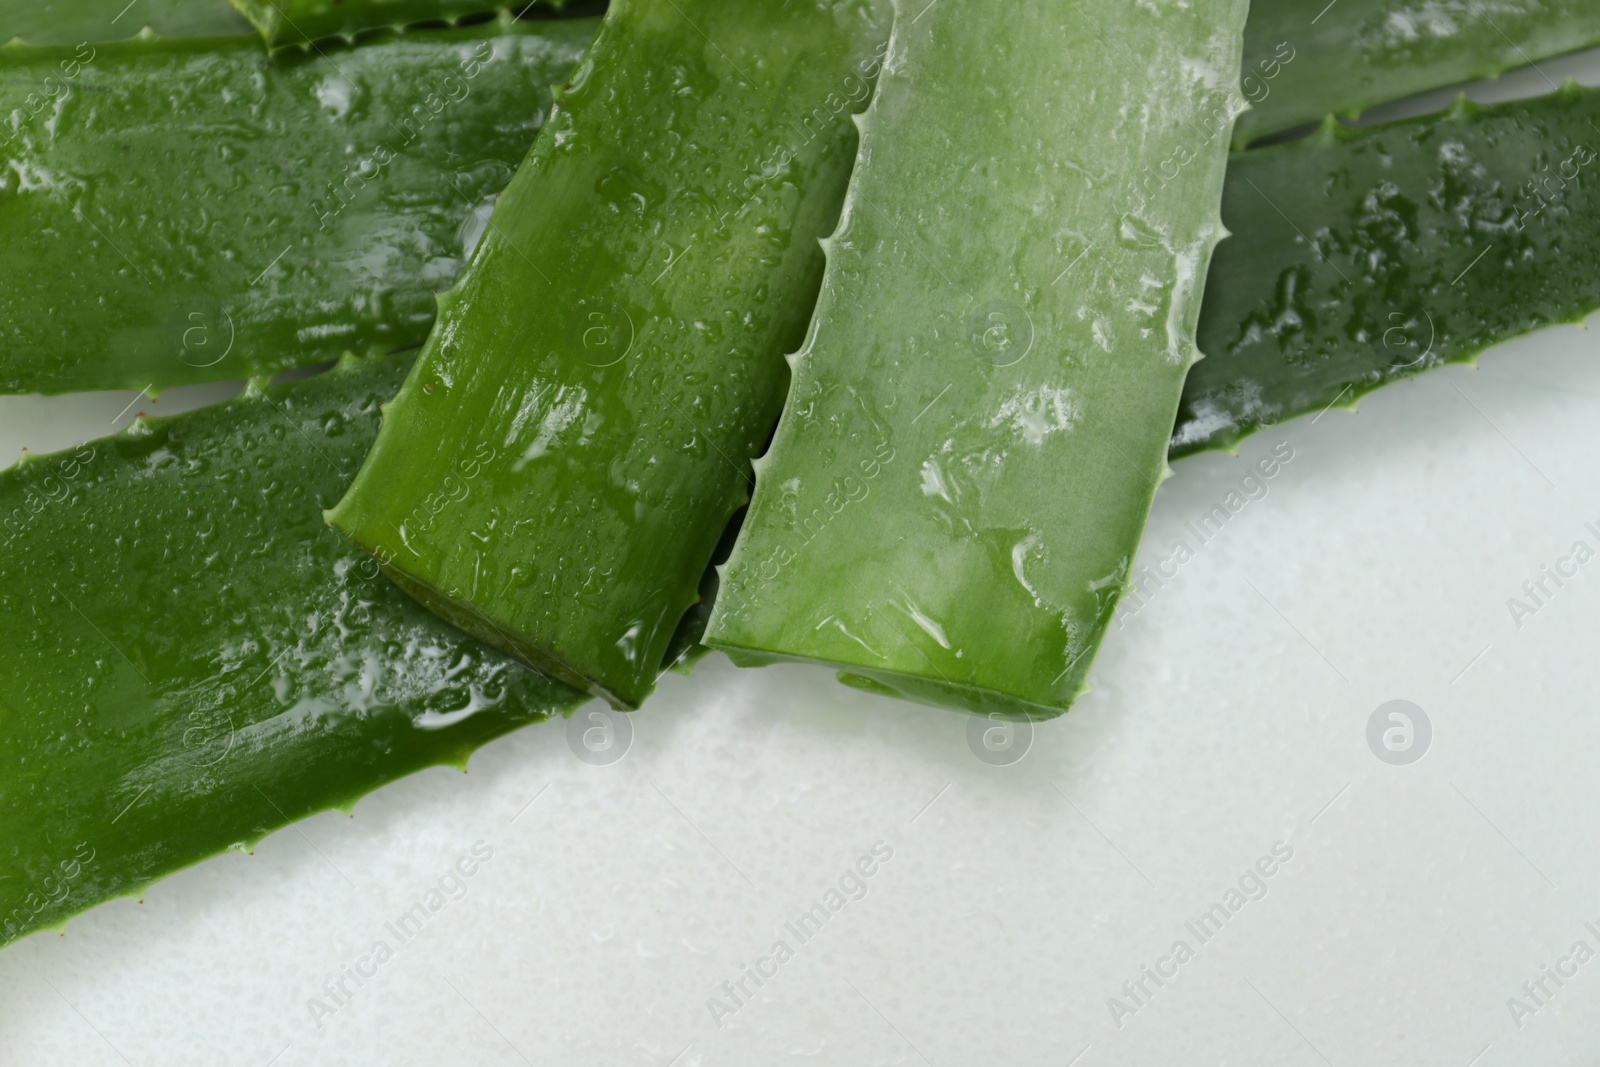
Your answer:
[[[712,648],[990,715],[1074,701],[1197,358],[1245,8],[896,22]]]

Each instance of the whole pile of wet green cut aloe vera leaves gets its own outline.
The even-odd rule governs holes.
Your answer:
[[[1600,91],[1306,130],[1576,0],[232,5],[0,0],[0,392],[250,379],[0,474],[0,944],[707,649],[1061,715],[1170,458],[1600,307]]]

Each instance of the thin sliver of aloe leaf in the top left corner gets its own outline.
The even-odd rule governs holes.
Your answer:
[[[237,37],[251,29],[227,0],[0,0],[0,43],[99,43],[146,26],[162,37]]]

